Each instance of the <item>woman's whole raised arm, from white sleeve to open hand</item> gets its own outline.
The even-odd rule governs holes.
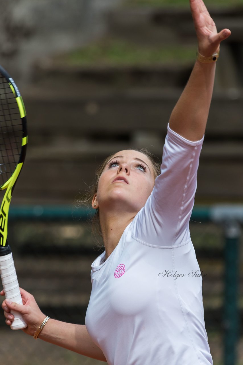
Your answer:
[[[202,0],[190,0],[198,50],[219,51],[230,30],[217,33]],[[196,52],[195,52],[196,53]],[[146,245],[180,246],[190,241],[189,220],[197,187],[197,168],[212,99],[216,63],[196,61],[169,120],[161,174],[145,206],[134,219],[133,237]]]

